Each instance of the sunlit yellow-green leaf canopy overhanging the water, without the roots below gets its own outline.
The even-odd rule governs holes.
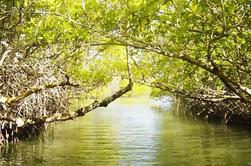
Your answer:
[[[115,46],[122,40],[135,46],[131,64],[139,80],[148,77],[189,90],[224,88],[208,71],[177,60],[183,55],[211,68],[215,63],[233,80],[250,78],[246,68],[236,70],[250,60],[247,1],[85,0],[84,9],[81,5],[81,0],[34,2],[22,33],[44,45],[67,45],[61,56],[70,57],[69,73],[82,82],[106,84],[126,75],[125,47]],[[71,56],[69,47],[76,48]]]

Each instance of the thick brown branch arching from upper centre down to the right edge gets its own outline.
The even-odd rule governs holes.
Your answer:
[[[216,36],[212,39],[212,41],[217,41],[225,36],[227,36],[227,33],[224,30],[219,36]],[[115,42],[114,42],[115,41]],[[243,101],[247,103],[251,103],[251,89],[248,87],[244,87],[241,84],[237,83],[233,79],[229,78],[226,74],[224,74],[223,69],[219,68],[212,60],[209,60],[208,62],[211,62],[211,65],[202,62],[201,60],[195,59],[192,56],[187,55],[186,53],[180,53],[180,54],[175,54],[174,52],[168,52],[166,50],[163,50],[161,47],[156,47],[150,43],[145,43],[141,41],[136,41],[136,43],[128,42],[123,38],[115,37],[113,38],[113,45],[123,45],[123,46],[130,46],[138,49],[143,49],[146,51],[150,52],[155,52],[157,54],[170,57],[170,58],[175,58],[175,59],[180,59],[184,62],[187,62],[191,65],[197,66],[203,70],[206,70],[207,72],[215,75],[218,77],[222,83],[225,84],[226,87],[228,87],[231,91],[233,91],[237,96],[239,96]],[[210,46],[210,45],[209,45]],[[210,46],[211,47],[211,46]],[[208,51],[210,51],[210,47],[208,48]],[[210,56],[210,55],[208,55]],[[212,63],[213,62],[213,63]]]

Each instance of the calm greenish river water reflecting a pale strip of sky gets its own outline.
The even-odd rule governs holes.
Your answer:
[[[0,165],[251,165],[251,133],[193,121],[171,104],[116,102],[9,145]]]

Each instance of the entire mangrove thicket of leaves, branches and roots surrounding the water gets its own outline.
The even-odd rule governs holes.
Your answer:
[[[106,107],[133,84],[250,126],[248,1],[3,0],[0,9],[2,143]],[[81,98],[91,102],[69,112]]]

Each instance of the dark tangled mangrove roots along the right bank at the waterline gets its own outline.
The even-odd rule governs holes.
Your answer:
[[[228,126],[251,129],[251,105],[240,101],[205,102],[180,98],[175,101],[187,115]]]

